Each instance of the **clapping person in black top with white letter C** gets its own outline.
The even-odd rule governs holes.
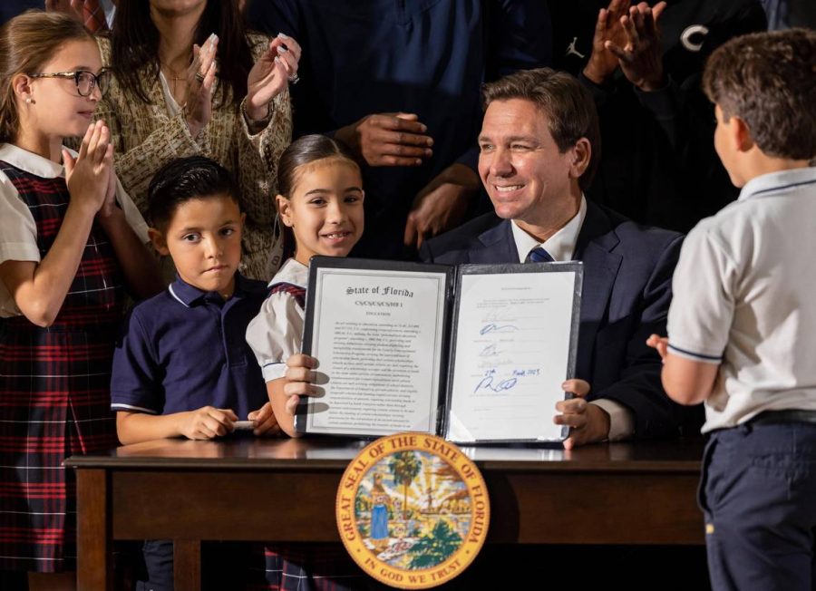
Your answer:
[[[600,117],[604,153],[588,198],[681,232],[736,199],[714,152],[700,77],[716,47],[765,29],[759,1],[581,0],[550,2],[550,10],[553,61],[578,74]]]

